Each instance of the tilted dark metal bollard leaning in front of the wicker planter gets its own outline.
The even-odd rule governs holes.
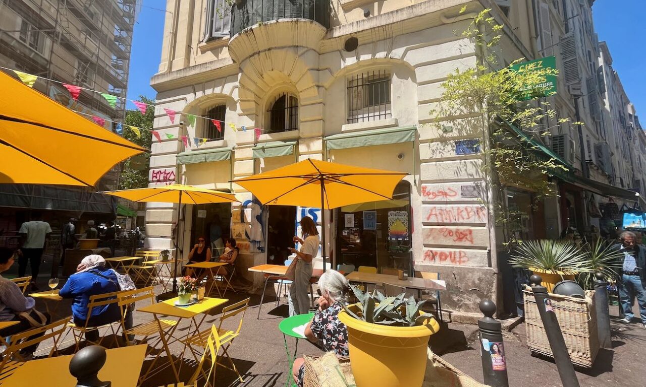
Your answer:
[[[576,373],[574,373],[574,365],[572,364],[572,359],[570,359],[570,353],[567,352],[567,346],[565,346],[565,340],[563,340],[563,333],[561,333],[561,326],[559,326],[559,322],[556,320],[556,314],[554,314],[551,304],[546,303],[546,301],[549,301],[549,297],[547,295],[547,288],[541,285],[543,279],[541,279],[540,275],[534,274],[530,277],[530,281],[532,282],[532,291],[536,299],[536,306],[541,315],[547,341],[550,342],[550,347],[554,354],[554,362],[559,371],[563,387],[579,387],[579,379],[577,379]],[[548,306],[549,311],[546,311],[546,306]]]

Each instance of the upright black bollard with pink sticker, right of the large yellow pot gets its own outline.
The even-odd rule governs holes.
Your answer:
[[[483,362],[485,384],[492,387],[509,387],[503,333],[501,324],[494,319],[494,302],[491,300],[480,301],[480,311],[485,315],[478,320],[480,357]]]

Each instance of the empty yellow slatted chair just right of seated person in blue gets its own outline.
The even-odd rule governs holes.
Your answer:
[[[146,288],[125,290],[118,294],[119,307],[121,308],[121,332],[124,333],[125,341],[128,345],[133,344],[130,342],[130,336],[143,336],[138,342],[146,342],[148,337],[156,333],[160,333],[160,326],[155,320],[147,321],[146,323],[138,324],[132,328],[126,328],[125,318],[129,312],[129,307],[134,306],[137,301],[148,300],[150,303],[155,302],[155,293],[152,286]],[[130,312],[134,313],[134,311]],[[161,329],[171,328],[177,325],[175,320],[160,320]]]

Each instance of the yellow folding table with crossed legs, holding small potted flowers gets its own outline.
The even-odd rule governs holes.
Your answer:
[[[143,308],[137,310],[138,312],[152,313],[152,315],[154,315],[154,319],[157,322],[157,326],[160,331],[160,340],[158,342],[161,341],[163,345],[166,356],[169,360],[169,363],[171,364],[172,372],[175,375],[176,382],[180,382],[180,374],[177,366],[175,365],[175,362],[182,362],[182,356],[186,350],[186,344],[183,344],[182,352],[180,353],[176,361],[173,360],[171,348],[169,348],[169,345],[173,344],[174,342],[186,342],[189,337],[200,331],[200,325],[204,322],[204,319],[206,319],[207,312],[229,301],[227,299],[204,297],[202,301],[197,301],[196,303],[189,306],[176,306],[175,303],[178,302],[179,299],[179,297],[175,297],[166,301],[162,301],[161,303],[154,303],[150,304],[149,306],[144,306]],[[198,317],[200,315],[202,317]],[[167,326],[167,328],[164,330],[163,325],[160,321],[160,316],[177,317],[177,324]],[[188,328],[185,329],[183,337],[177,337],[175,335],[175,332],[177,330],[177,327],[180,326],[182,319],[190,319],[191,322],[189,323]],[[154,348],[151,348],[151,350],[154,350]],[[143,376],[141,376],[139,384],[141,384],[141,382],[145,381],[146,379],[157,373],[159,370],[161,370],[161,368],[163,368],[160,367],[157,370],[154,370],[154,364],[157,362],[157,359],[159,359],[160,355],[161,351],[158,351],[154,360],[151,362],[151,365],[148,367]]]

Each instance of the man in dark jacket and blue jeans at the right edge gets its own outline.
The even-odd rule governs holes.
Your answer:
[[[640,307],[641,324],[646,328],[646,248],[636,242],[633,232],[625,231],[619,235],[620,243],[613,247],[623,253],[620,258],[621,270],[617,281],[619,301],[623,311],[623,323],[632,323],[634,313],[632,305],[637,303]]]

